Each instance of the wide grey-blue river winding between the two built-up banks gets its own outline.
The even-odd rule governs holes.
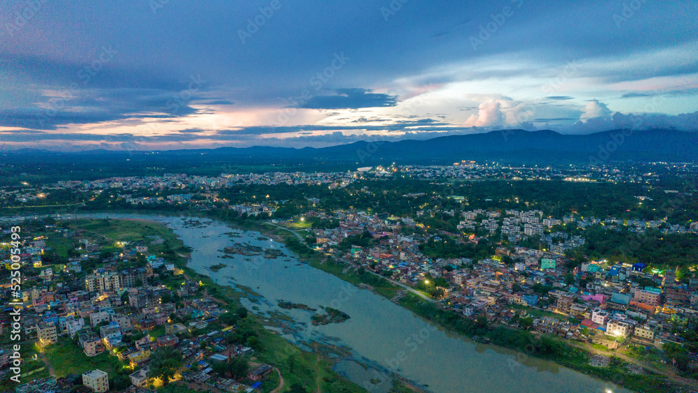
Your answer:
[[[283,244],[262,239],[259,232],[236,230],[205,218],[113,213],[80,217],[142,218],[168,225],[193,249],[189,267],[218,284],[239,284],[261,295],[246,304],[254,313],[269,316],[269,312],[281,312],[292,317],[295,322],[288,326],[290,329],[281,329],[286,339],[301,346],[309,341],[346,346],[355,359],[372,365],[365,370],[343,359],[336,366],[336,371],[371,392],[384,393],[390,388],[390,379],[378,370],[396,371],[435,393],[629,392],[552,362],[473,343],[437,329],[385,297],[300,263]],[[286,256],[224,257],[223,248],[236,242],[279,249]],[[218,272],[209,269],[218,264],[226,267]],[[279,299],[313,309],[332,306],[348,313],[350,319],[315,327],[311,325],[311,311],[281,309],[277,306]]]

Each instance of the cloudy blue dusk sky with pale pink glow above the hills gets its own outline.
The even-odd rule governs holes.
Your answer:
[[[698,128],[698,1],[0,0],[0,149]]]

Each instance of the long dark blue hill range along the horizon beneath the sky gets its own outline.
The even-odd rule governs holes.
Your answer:
[[[77,153],[50,153],[24,149],[20,156],[59,156],[77,160],[111,160],[128,156],[132,161],[343,161],[370,164],[386,161],[401,163],[451,163],[461,160],[510,162],[551,161],[698,161],[698,133],[674,130],[604,131],[589,135],[563,135],[555,131],[503,130],[488,133],[452,135],[429,140],[398,142],[355,142],[315,149],[285,147],[221,147],[159,151],[88,150]]]

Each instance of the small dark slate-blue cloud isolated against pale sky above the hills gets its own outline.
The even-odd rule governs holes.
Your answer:
[[[334,96],[314,96],[299,107],[306,109],[359,109],[362,107],[391,107],[397,97],[371,93],[367,89],[336,89]]]

